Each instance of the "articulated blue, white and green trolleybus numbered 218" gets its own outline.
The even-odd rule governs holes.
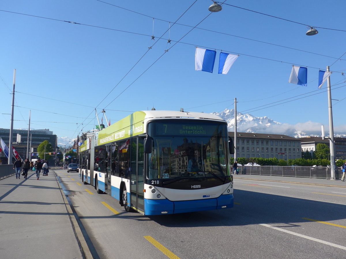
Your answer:
[[[144,215],[233,207],[234,145],[217,115],[139,111],[80,146],[80,178]]]

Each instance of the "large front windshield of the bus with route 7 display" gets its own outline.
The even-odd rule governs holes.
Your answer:
[[[226,176],[227,124],[198,120],[160,121],[148,125],[153,137],[147,178]]]

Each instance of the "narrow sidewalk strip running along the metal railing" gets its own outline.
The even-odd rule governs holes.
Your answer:
[[[270,182],[284,182],[284,183],[302,183],[310,185],[323,185],[330,187],[345,187],[346,182],[338,180],[320,179],[320,178],[303,178],[303,177],[285,177],[285,176],[272,176],[272,175],[257,175],[257,174],[235,174],[233,175],[234,181],[237,179],[256,180],[256,181],[270,181]]]

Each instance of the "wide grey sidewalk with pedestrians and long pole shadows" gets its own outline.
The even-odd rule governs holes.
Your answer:
[[[1,258],[91,258],[52,169],[0,180]]]

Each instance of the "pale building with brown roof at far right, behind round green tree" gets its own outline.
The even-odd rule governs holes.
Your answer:
[[[301,137],[301,151],[309,152],[311,156],[316,151],[318,143],[323,143],[329,146],[329,139],[322,140],[322,137]],[[335,159],[346,159],[346,138],[334,137],[335,142]]]

